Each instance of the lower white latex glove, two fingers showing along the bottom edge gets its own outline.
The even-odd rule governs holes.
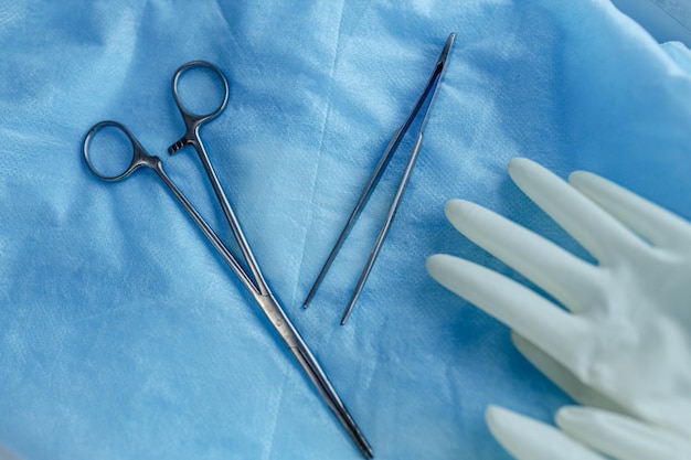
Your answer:
[[[486,417],[495,438],[518,460],[691,459],[683,438],[602,409],[562,407],[555,417],[561,430],[496,406]]]

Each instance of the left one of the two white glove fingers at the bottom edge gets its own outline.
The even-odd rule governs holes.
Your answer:
[[[495,439],[519,460],[605,460],[553,426],[489,406],[485,414]]]

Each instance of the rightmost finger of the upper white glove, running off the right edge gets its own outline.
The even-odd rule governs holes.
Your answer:
[[[658,246],[691,244],[691,225],[678,215],[597,174],[576,171],[568,182],[623,224]]]

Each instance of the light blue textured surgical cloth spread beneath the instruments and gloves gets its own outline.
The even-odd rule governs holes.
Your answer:
[[[421,158],[349,323],[401,159],[302,310],[451,31]],[[156,175],[110,184],[84,164],[87,129],[124,122],[228,237],[193,151],[164,153],[182,135],[170,79],[188,61],[228,76],[202,138],[379,459],[507,459],[488,404],[546,420],[568,400],[506,327],[427,276],[435,253],[517,276],[451,228],[448,199],[582,254],[508,179],[523,156],[691,217],[689,51],[605,0],[3,1],[0,44],[0,445],[24,460],[359,458]]]

